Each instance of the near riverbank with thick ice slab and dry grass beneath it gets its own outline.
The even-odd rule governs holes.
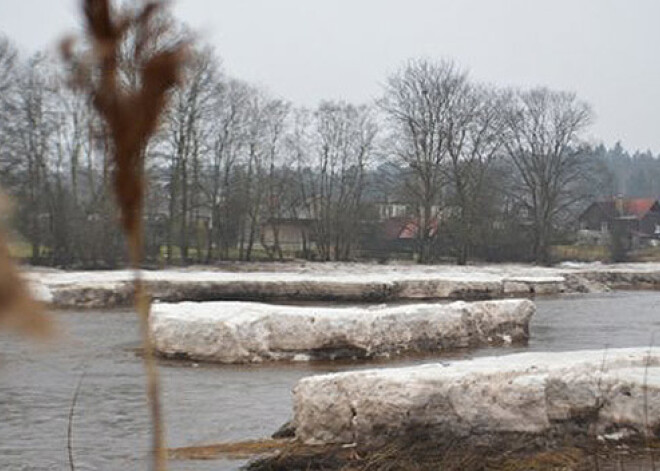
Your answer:
[[[249,469],[651,470],[659,399],[648,348],[309,377],[294,389],[295,438]]]

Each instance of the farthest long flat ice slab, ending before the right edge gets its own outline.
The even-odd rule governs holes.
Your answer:
[[[517,276],[521,270],[526,277]],[[132,274],[128,271],[51,271],[29,275],[40,298],[56,307],[107,308],[131,303]],[[564,277],[554,271],[530,271],[529,267],[458,270],[451,266],[333,264],[280,272],[143,271],[142,276],[153,297],[166,302],[474,300],[566,291]]]

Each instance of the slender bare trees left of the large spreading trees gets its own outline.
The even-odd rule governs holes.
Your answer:
[[[91,104],[52,59],[0,43],[0,183],[34,263],[113,266],[124,252],[108,197],[108,143]],[[126,80],[130,80],[126,77]],[[211,49],[191,53],[147,149],[153,258],[251,260],[266,220],[314,221],[319,258],[353,255],[353,228],[377,132],[367,106],[294,109],[227,76]],[[276,226],[275,226],[276,229]],[[276,243],[266,247],[282,257]]]

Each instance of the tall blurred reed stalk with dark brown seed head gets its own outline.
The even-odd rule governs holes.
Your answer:
[[[166,469],[166,447],[161,416],[159,380],[149,337],[150,297],[140,276],[142,262],[142,206],[144,201],[144,155],[147,142],[158,126],[168,93],[179,82],[184,45],[158,49],[152,19],[162,2],[146,2],[142,8],[118,15],[110,0],[84,0],[90,57],[78,57],[73,41],[62,43],[62,54],[71,66],[71,82],[87,92],[106,124],[112,142],[113,188],[120,209],[121,225],[128,241],[134,269],[135,308],[147,374],[147,396],[152,419],[153,468]],[[131,87],[122,81],[120,53],[127,33],[134,31],[130,67],[138,77]],[[159,31],[162,33],[162,31]]]

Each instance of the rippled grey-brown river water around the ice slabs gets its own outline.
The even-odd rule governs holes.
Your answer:
[[[537,306],[527,347],[482,349],[460,357],[647,346],[651,335],[660,332],[660,292],[571,295],[537,299]],[[0,470],[69,469],[69,408],[83,372],[73,428],[76,469],[148,469],[149,422],[142,364],[135,354],[134,314],[54,315],[66,334],[51,347],[0,336]],[[270,435],[290,417],[290,390],[303,376],[438,359],[456,356],[243,367],[161,362],[168,445]],[[173,461],[171,469],[233,470],[243,463]]]

